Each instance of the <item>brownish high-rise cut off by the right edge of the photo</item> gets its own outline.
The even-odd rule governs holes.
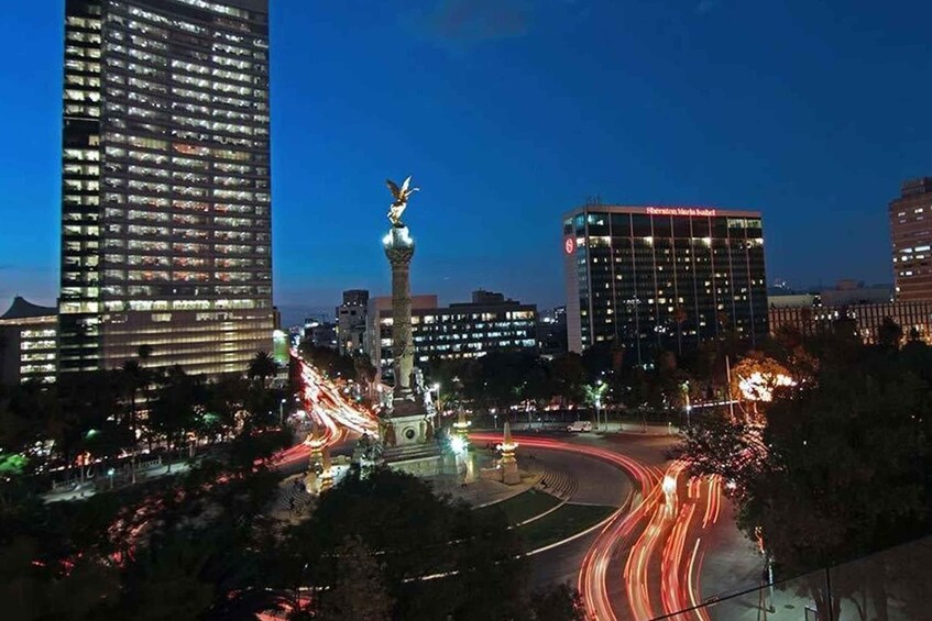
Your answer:
[[[897,300],[932,300],[932,177],[904,181],[890,201]]]

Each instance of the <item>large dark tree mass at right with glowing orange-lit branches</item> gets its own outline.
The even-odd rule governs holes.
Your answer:
[[[820,352],[818,370],[774,391],[766,413],[703,417],[681,445],[694,474],[732,484],[738,525],[761,537],[778,577],[837,565],[928,529],[932,390],[914,370],[928,367],[925,352],[912,344],[899,354],[853,347],[846,331],[809,342]],[[884,575],[870,577],[875,610],[886,608]],[[804,586],[823,621],[837,619],[838,598],[862,589],[857,579],[838,580],[830,601],[818,580]]]

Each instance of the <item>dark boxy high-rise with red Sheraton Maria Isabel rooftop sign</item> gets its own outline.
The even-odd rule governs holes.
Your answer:
[[[759,212],[590,204],[562,233],[571,352],[607,343],[646,363],[726,331],[767,334]]]

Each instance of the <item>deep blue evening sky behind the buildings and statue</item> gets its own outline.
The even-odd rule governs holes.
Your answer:
[[[276,302],[388,288],[563,301],[560,214],[765,214],[768,279],[890,281],[888,201],[932,174],[929,2],[272,0]],[[4,4],[0,307],[57,292],[62,0]],[[0,309],[2,310],[2,309]]]

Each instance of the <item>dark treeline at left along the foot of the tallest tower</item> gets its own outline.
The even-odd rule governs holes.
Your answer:
[[[265,353],[243,374],[211,380],[180,367],[149,368],[146,357],[63,374],[51,385],[0,388],[0,472],[78,478],[80,464],[99,464],[99,472],[119,462],[122,475],[142,450],[172,457],[244,425],[275,425],[282,399],[290,406],[288,388],[270,381],[277,366]]]

